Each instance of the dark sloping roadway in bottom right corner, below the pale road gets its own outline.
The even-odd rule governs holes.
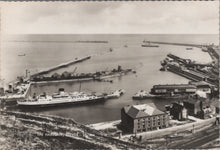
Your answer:
[[[199,148],[205,143],[208,143],[212,140],[219,138],[219,128],[218,126],[211,127],[205,131],[201,131],[194,135],[193,137],[189,137],[182,142],[177,142],[174,144],[170,144],[169,148],[172,149],[190,149],[190,148]]]

